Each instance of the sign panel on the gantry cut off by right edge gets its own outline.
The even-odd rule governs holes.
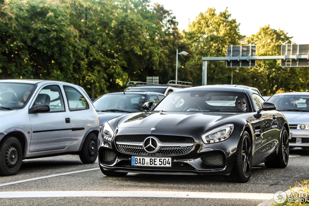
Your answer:
[[[307,59],[298,59],[297,55],[306,55]],[[281,67],[309,67],[309,44],[281,45],[281,56],[296,55],[294,59],[281,59]]]

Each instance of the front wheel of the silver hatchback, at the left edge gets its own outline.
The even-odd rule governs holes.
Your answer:
[[[7,137],[0,144],[0,176],[15,175],[23,161],[23,149],[15,137]]]

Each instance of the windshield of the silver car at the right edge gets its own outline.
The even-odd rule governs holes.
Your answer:
[[[273,96],[268,101],[274,103],[278,111],[309,111],[309,95]]]

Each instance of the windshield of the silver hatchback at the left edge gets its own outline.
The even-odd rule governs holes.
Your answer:
[[[0,83],[0,107],[7,109],[22,108],[34,88],[35,84]]]

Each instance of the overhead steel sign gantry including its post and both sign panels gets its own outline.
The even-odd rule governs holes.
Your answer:
[[[255,67],[256,60],[281,59],[281,67],[309,67],[309,45],[281,46],[281,56],[256,56],[256,46],[228,46],[226,57],[203,57],[202,85],[207,85],[207,61],[226,61],[226,67]]]

